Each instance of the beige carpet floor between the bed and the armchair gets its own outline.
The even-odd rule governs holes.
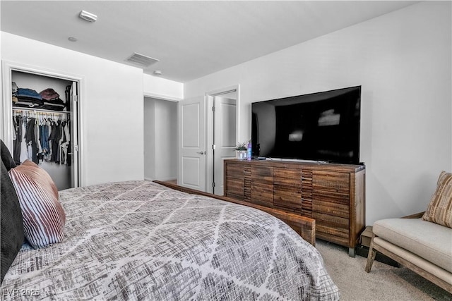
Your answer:
[[[452,300],[452,295],[405,267],[374,262],[371,272],[367,258],[348,256],[348,248],[323,240],[316,241],[328,273],[338,285],[341,300]]]

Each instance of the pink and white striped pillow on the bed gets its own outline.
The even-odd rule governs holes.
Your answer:
[[[46,173],[42,168],[41,170]],[[34,248],[48,247],[64,238],[66,214],[53,191],[22,170],[11,168],[9,176],[19,199],[25,238]]]

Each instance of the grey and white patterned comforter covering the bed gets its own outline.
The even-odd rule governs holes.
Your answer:
[[[263,211],[150,181],[60,192],[64,241],[25,244],[4,300],[338,300],[317,250]]]

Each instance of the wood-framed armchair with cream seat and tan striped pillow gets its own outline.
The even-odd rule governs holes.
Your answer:
[[[373,226],[365,270],[376,252],[452,293],[452,173],[442,172],[427,211]]]

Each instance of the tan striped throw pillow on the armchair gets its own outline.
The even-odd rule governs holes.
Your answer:
[[[439,175],[436,191],[422,219],[452,228],[452,173],[443,171]]]

